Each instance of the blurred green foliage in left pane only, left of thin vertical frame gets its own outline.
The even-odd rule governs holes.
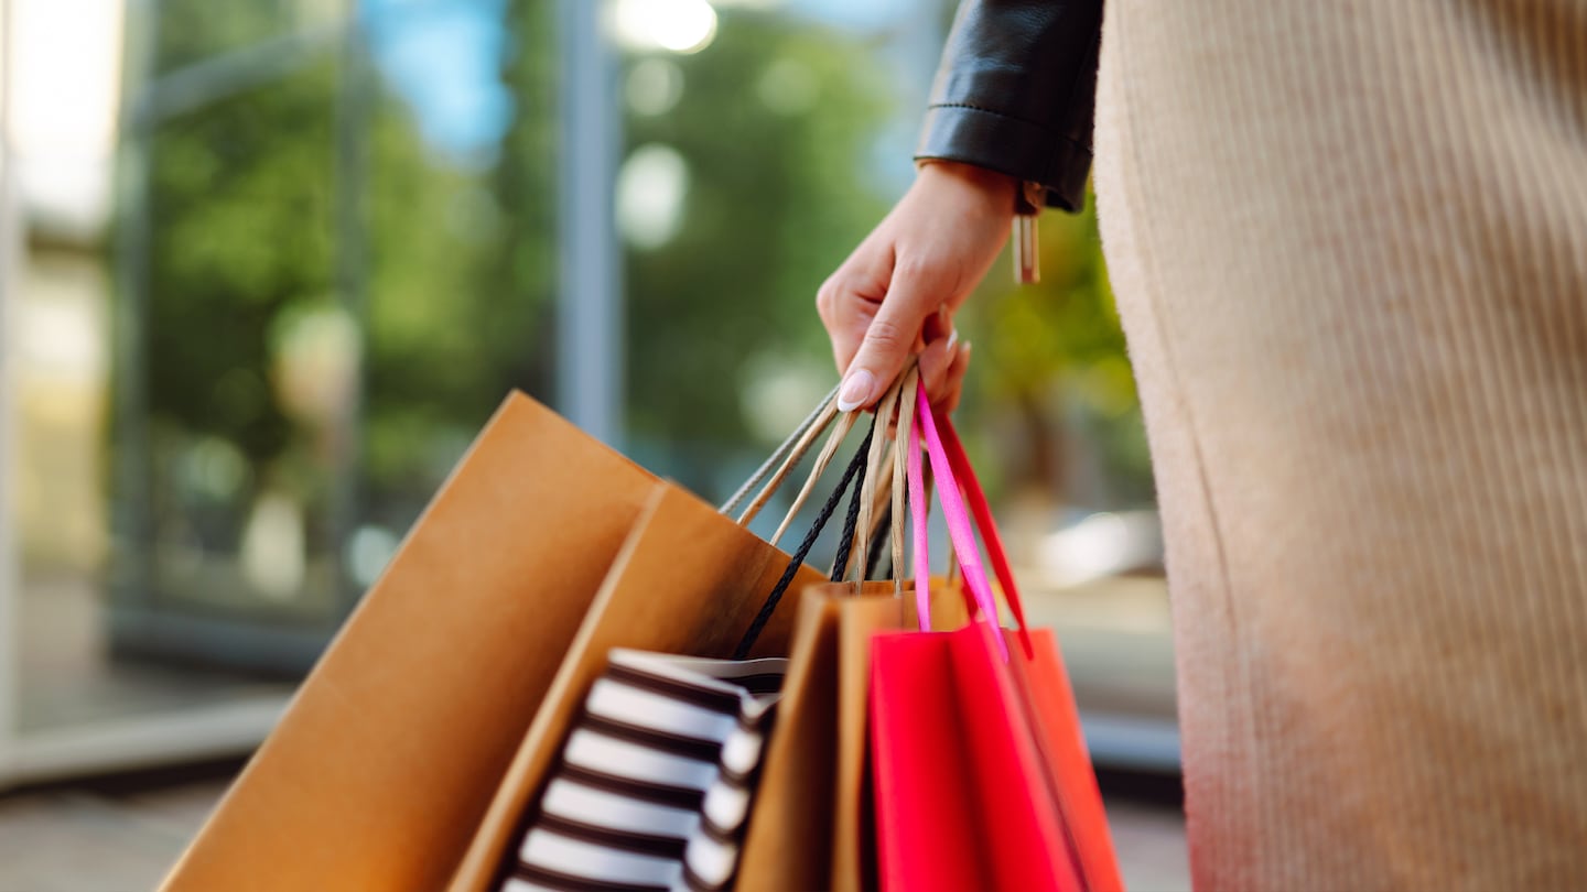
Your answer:
[[[163,3],[156,70],[282,29],[281,3],[227,6]],[[160,522],[202,514],[194,524],[214,548],[238,535],[260,478],[313,476],[313,467],[278,465],[295,443],[273,395],[270,335],[290,308],[330,295],[333,83],[329,60],[311,62],[162,122],[146,146],[148,303],[140,330],[122,338],[143,343]],[[194,479],[184,468],[200,460],[195,449],[246,473]]]

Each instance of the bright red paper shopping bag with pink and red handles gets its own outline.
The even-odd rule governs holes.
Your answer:
[[[957,435],[933,421],[924,394],[917,416],[909,456],[917,592],[930,576],[924,487],[917,484],[924,432],[966,598],[974,603],[970,625],[959,632],[886,633],[873,643],[871,756],[882,887],[1122,889],[1057,644],[1051,632],[1025,629],[1008,560]],[[1016,617],[1013,648],[997,625],[965,495]]]

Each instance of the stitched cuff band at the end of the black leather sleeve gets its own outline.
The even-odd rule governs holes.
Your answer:
[[[1089,148],[1039,124],[970,105],[933,105],[916,160],[973,163],[1047,189],[1047,206],[1079,211],[1090,176]]]

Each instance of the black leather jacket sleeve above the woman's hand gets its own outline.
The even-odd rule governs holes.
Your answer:
[[[1086,202],[1103,0],[963,0],[916,160],[955,160]]]

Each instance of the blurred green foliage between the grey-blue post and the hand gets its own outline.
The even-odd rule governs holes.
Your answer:
[[[830,362],[814,294],[886,213],[870,151],[892,108],[863,43],[767,14],[724,13],[678,65],[678,106],[628,121],[630,146],[674,148],[690,181],[678,236],[628,254],[628,417],[743,443],[751,363]]]

